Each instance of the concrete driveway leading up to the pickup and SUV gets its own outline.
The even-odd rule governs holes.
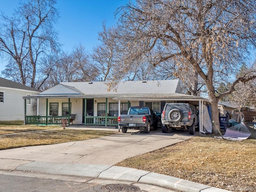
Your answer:
[[[114,165],[126,158],[182,142],[190,137],[184,132],[163,134],[161,130],[152,130],[144,134],[144,131],[136,133],[128,130],[126,134],[118,132],[91,140],[2,150],[0,169],[4,162],[10,161],[14,161],[12,165],[16,167],[17,160]],[[19,166],[21,162],[17,162]]]

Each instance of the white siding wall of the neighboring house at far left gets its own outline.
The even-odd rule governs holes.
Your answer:
[[[24,120],[24,100],[22,97],[37,93],[11,88],[0,88],[0,90],[4,91],[4,103],[0,103],[0,121]],[[36,110],[33,111],[34,104],[36,104],[36,99],[31,99],[31,104],[26,105],[27,115],[36,114]]]

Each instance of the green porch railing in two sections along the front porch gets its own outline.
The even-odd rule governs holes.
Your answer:
[[[62,124],[68,116],[26,116],[26,124]],[[86,116],[84,125],[118,126],[116,116]]]

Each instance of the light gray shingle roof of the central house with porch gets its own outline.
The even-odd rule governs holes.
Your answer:
[[[109,90],[106,82],[62,82],[29,98],[114,98],[116,100],[206,100],[180,94],[179,80],[151,80],[119,82]],[[28,98],[28,97],[24,97]],[[197,104],[197,103],[196,103]]]

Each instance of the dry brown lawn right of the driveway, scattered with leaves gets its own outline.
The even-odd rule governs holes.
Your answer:
[[[256,130],[241,142],[195,136],[190,140],[126,159],[126,166],[232,191],[256,190]]]

